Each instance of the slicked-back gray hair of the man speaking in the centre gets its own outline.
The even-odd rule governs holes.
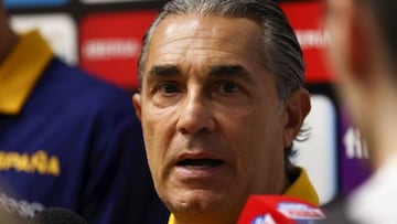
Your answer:
[[[287,99],[293,90],[303,87],[302,50],[285,13],[271,0],[171,0],[160,11],[143,38],[138,61],[140,82],[148,45],[155,28],[169,15],[190,13],[246,18],[256,22],[262,30],[260,57],[264,66],[275,74],[280,99]]]

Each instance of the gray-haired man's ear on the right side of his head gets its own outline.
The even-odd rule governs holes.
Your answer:
[[[311,108],[310,94],[307,89],[294,90],[285,102],[283,107],[283,146],[289,148],[298,136],[303,120]]]

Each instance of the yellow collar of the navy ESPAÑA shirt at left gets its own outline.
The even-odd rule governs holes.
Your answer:
[[[52,57],[53,52],[39,31],[21,35],[0,65],[0,113],[17,115],[21,111]]]

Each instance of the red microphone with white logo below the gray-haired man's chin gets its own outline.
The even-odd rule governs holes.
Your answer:
[[[282,195],[251,195],[237,224],[313,224],[325,218],[316,205]]]

